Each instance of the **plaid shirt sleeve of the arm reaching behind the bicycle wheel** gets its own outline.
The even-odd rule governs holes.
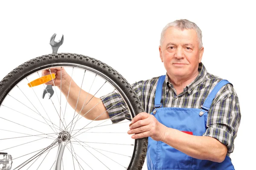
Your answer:
[[[137,97],[141,100],[141,87],[143,81],[135,82],[132,84],[132,88],[134,89]],[[113,91],[110,94],[100,97],[103,102],[103,105],[108,111],[109,117],[112,123],[118,123],[122,120],[128,119],[131,120],[131,115],[129,110],[120,96],[120,94],[116,91]]]

